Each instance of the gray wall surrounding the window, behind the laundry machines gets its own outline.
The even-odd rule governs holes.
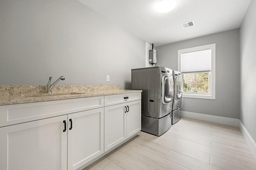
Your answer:
[[[216,43],[216,100],[183,98],[183,111],[239,118],[239,42],[239,29],[233,29],[156,47],[158,52],[157,65],[177,70],[178,50]]]

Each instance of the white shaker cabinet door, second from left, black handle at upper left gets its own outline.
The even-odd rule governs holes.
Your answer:
[[[103,152],[104,108],[69,114],[68,170],[79,168]]]

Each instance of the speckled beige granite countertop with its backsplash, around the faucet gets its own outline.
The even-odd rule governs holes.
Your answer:
[[[0,106],[134,92],[142,90],[120,90],[119,85],[56,85],[48,96],[46,86],[0,85]]]

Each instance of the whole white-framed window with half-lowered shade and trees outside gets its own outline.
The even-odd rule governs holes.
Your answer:
[[[215,100],[215,44],[178,50],[183,97]]]

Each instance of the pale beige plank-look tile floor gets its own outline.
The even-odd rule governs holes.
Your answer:
[[[160,137],[139,132],[83,170],[256,170],[238,127],[182,119]]]

